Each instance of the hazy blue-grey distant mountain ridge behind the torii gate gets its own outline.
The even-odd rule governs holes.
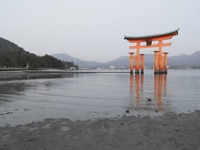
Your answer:
[[[109,68],[109,66],[115,66],[116,68],[129,68],[129,56],[121,56],[113,61],[100,63],[96,61],[84,61],[78,58],[73,58],[70,55],[60,53],[60,54],[52,54],[57,59],[64,61],[73,61],[80,68]],[[154,54],[146,54],[145,55],[145,66],[153,67],[154,64]],[[192,55],[178,55],[171,56],[168,58],[168,65],[181,67],[181,66],[200,66],[200,51],[196,51]]]

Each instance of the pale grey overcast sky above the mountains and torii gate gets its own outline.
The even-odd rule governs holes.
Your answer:
[[[128,56],[124,35],[178,28],[164,50],[170,56],[200,50],[199,0],[0,0],[0,37],[37,55],[105,62]]]

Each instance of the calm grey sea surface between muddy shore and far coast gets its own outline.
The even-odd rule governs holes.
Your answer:
[[[72,73],[0,81],[0,126],[45,118],[156,116],[200,109],[200,70]]]

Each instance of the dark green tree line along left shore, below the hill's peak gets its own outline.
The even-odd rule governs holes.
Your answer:
[[[37,56],[20,49],[19,51],[10,51],[0,54],[0,66],[1,67],[13,67],[13,68],[57,68],[57,69],[69,69],[78,66],[73,62],[66,62],[58,60],[50,55]]]

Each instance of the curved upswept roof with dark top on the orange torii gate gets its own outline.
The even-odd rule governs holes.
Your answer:
[[[162,33],[162,34],[155,34],[155,35],[146,35],[146,36],[124,36],[125,40],[128,41],[153,41],[153,40],[158,40],[158,39],[171,39],[172,36],[178,35],[178,30],[174,30],[171,32],[167,32],[167,33]]]

